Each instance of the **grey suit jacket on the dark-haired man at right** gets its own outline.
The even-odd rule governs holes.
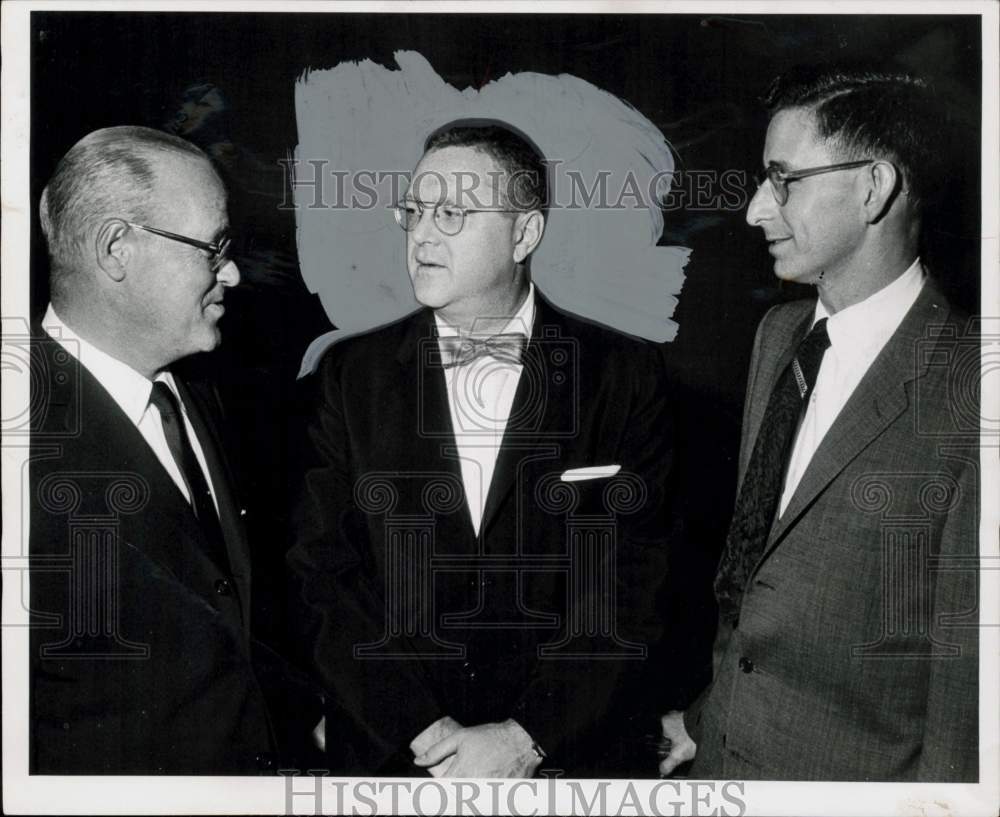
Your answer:
[[[754,345],[740,474],[815,302]],[[978,775],[979,340],[925,285],[823,438],[717,639],[695,777]]]

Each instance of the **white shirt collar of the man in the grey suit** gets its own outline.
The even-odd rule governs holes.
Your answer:
[[[874,346],[881,348],[899,328],[913,306],[927,277],[917,258],[888,286],[831,315],[821,298],[816,299],[813,323],[826,318],[830,346],[838,353],[862,352]]]

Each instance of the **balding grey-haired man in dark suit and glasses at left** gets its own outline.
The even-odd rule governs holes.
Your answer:
[[[275,708],[290,676],[250,635],[214,392],[171,368],[218,345],[239,282],[223,185],[182,139],[106,128],[63,157],[40,209],[30,770],[273,773],[294,762]]]

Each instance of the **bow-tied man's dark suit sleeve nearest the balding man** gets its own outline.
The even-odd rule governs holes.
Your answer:
[[[354,501],[349,411],[334,352],[307,386],[297,435],[300,481],[288,555],[293,639],[327,696],[327,755],[335,772],[399,771],[409,742],[444,713],[417,661],[355,657],[385,631],[382,582]],[[293,432],[293,437],[296,434]],[[413,772],[410,772],[411,774]]]

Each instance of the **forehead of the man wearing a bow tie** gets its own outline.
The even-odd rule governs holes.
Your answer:
[[[502,175],[503,169],[481,150],[471,147],[439,148],[425,153],[414,168],[408,195],[420,201],[446,199],[455,204],[472,206],[475,201],[488,200],[497,189]]]

